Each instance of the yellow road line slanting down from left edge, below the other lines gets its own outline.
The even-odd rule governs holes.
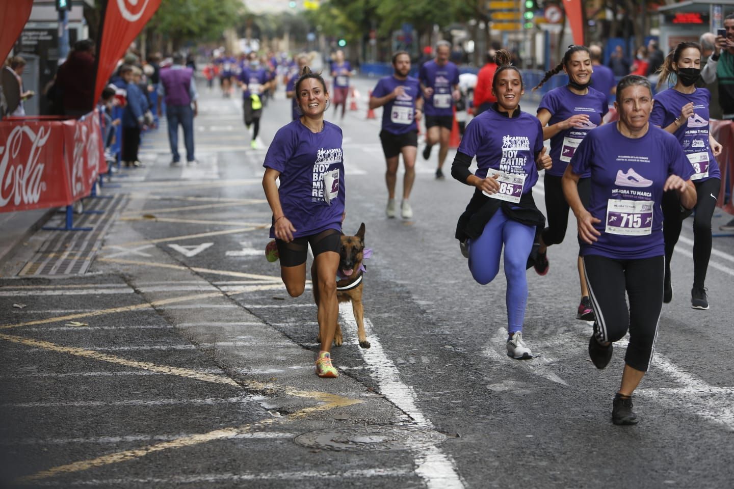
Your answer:
[[[177,375],[178,377],[192,378],[195,380],[204,380],[206,382],[222,383],[227,386],[241,387],[239,383],[236,383],[234,380],[226,377],[225,375],[205,374],[192,369],[167,367],[165,365],[151,364],[147,361],[123,359],[120,356],[108,355],[107,353],[101,353],[95,350],[86,350],[84,348],[56,345],[54,343],[46,342],[40,339],[16,337],[4,333],[0,333],[0,339],[5,339],[9,342],[18,343],[20,345],[26,345],[33,348],[42,348],[43,350],[54,351],[57,353],[68,353],[70,355],[81,356],[87,359],[106,361],[111,364],[117,365],[124,365],[125,367],[134,367],[138,369],[149,370],[150,372],[156,372],[159,374]]]

